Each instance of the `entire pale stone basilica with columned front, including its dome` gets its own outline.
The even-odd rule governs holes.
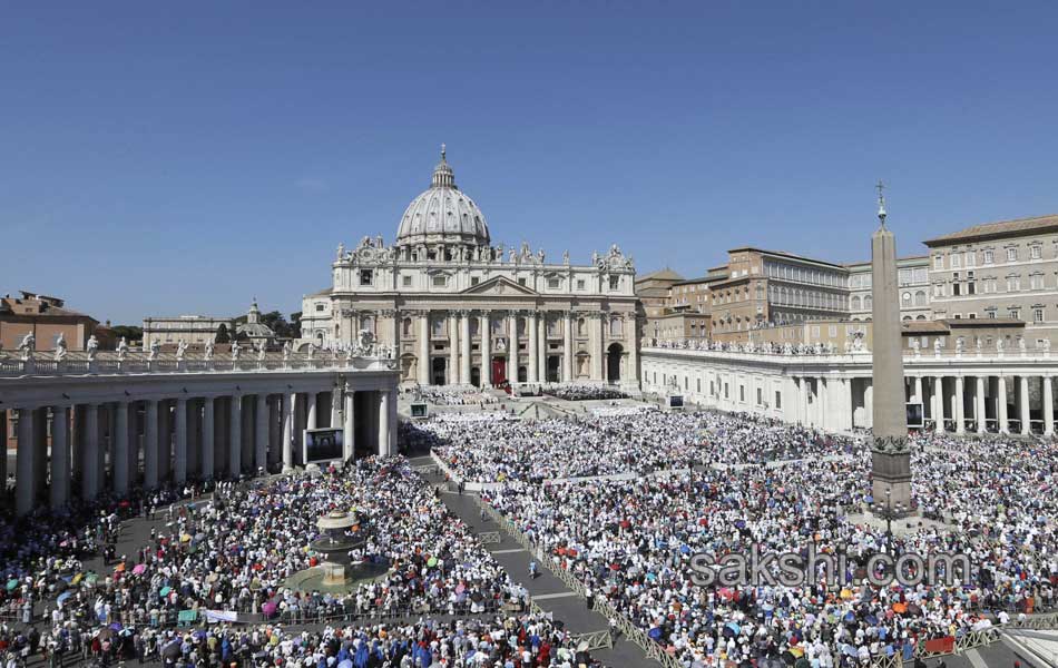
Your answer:
[[[368,332],[405,385],[638,387],[631,257],[611,246],[574,265],[568,252],[548,262],[528,244],[493,245],[443,148],[395,242],[339,246],[331,287],[302,307],[303,346],[345,347]]]

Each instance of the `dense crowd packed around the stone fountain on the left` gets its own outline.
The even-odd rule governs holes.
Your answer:
[[[173,500],[153,495],[145,514]],[[382,574],[346,595],[300,591],[290,579],[320,563],[311,544],[316,520],[334,510],[368,518],[364,557]],[[442,657],[502,666],[523,656],[532,666],[572,666],[576,658],[559,626],[504,616],[526,608],[525,589],[403,458],[370,458],[320,477],[222,483],[210,499],[164,512],[161,531],[151,530],[136,553],[111,554],[99,573],[86,573],[79,557],[114,540],[117,513],[38,521],[36,531],[0,525],[9,580],[0,596],[18,612],[0,626],[0,665],[40,655],[186,666],[326,666],[329,657],[350,655],[355,666],[430,666]],[[30,626],[41,610],[47,628]],[[435,615],[470,617],[316,633],[281,626]],[[182,631],[185,616],[208,630]],[[263,622],[226,626],[234,619]]]

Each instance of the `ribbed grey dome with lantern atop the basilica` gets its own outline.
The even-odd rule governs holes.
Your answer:
[[[418,244],[489,245],[489,226],[473,199],[455,186],[455,174],[441,147],[430,188],[415,197],[396,230],[399,246]]]

